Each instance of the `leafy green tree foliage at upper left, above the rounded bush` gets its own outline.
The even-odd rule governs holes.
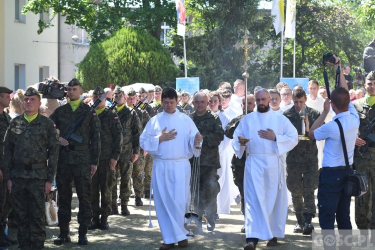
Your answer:
[[[173,0],[29,0],[23,11],[50,12],[48,23],[39,20],[38,33],[53,25],[51,20],[59,13],[66,16],[66,24],[76,23],[85,29],[91,42],[128,25],[142,27],[159,39],[162,22],[176,25]]]

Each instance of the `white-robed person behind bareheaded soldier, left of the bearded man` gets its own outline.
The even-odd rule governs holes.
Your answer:
[[[221,121],[221,126],[224,128],[229,123],[229,117],[226,116],[221,109],[221,96],[218,91],[211,91],[209,94],[209,108],[215,112]],[[235,187],[233,181],[233,173],[230,168],[230,159],[227,151],[230,152],[230,156],[233,155],[233,149],[231,148],[230,139],[224,136],[224,139],[219,144],[219,155],[220,155],[220,168],[217,169],[219,175],[220,192],[217,194],[217,213],[230,213],[230,203],[233,200],[232,189]],[[217,213],[214,215],[215,219],[218,218]]]

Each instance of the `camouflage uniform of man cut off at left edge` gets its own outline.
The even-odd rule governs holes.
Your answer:
[[[4,148],[3,140],[7,127],[10,123],[10,116],[3,111],[0,114],[0,170],[2,174],[5,173],[4,165],[1,164],[2,160],[2,151]],[[11,194],[7,190],[6,181],[0,182],[0,237],[4,231],[6,225],[6,218],[8,217],[11,209],[13,208],[13,200]]]

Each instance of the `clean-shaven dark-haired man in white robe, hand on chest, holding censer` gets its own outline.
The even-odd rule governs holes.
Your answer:
[[[184,215],[190,203],[190,163],[194,145],[202,140],[191,118],[176,109],[177,93],[166,87],[161,93],[164,109],[152,117],[139,137],[140,146],[153,157],[153,199],[164,243],[187,246]]]

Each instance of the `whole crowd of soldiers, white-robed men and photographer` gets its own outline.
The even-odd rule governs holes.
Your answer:
[[[331,64],[337,68],[335,58]],[[337,121],[345,131],[351,171],[366,172],[372,190],[355,199],[356,225],[375,229],[375,142],[357,137],[375,117],[375,71],[365,79],[365,92],[358,89],[362,96],[349,90],[346,71],[340,71],[339,87],[331,92],[310,80],[308,94],[285,82],[250,93],[241,79],[234,81],[234,93],[229,82],[221,82],[216,90],[190,95],[158,85],[97,86],[83,93],[73,78],[63,101],[42,98],[33,87],[14,94],[0,87],[0,246],[43,248],[44,202],[54,180],[56,245],[70,242],[73,184],[80,245],[88,243],[87,230],[109,229],[111,214],[130,215],[132,192],[136,206],[143,198],[154,199],[160,249],[188,245],[184,216],[191,207],[197,215],[193,233],[201,234],[203,222],[214,230],[236,197],[244,215],[245,250],[255,249],[259,239],[278,244],[289,204],[297,221],[294,233],[311,234],[316,205],[322,229],[333,229],[335,219],[339,229],[351,229]],[[190,186],[192,178],[198,179],[197,188]],[[4,234],[11,209],[17,214],[17,240]]]

